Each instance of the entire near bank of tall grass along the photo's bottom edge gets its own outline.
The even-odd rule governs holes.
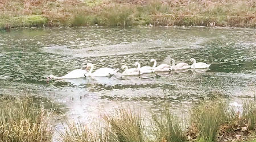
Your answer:
[[[164,108],[151,115],[135,108],[117,108],[97,123],[67,122],[64,131],[53,130],[52,112],[31,98],[3,98],[0,102],[0,141],[168,142],[168,141],[255,141],[256,102],[245,101],[236,112],[220,100],[192,108],[189,119]]]

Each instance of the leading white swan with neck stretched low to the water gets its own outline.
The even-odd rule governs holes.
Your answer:
[[[57,77],[57,76],[54,76],[53,74],[51,74],[47,77],[47,81],[49,81],[51,79],[62,80],[65,78],[80,78],[80,77],[84,77],[84,74],[86,74],[86,73],[87,73],[87,71],[85,69],[75,69],[75,70],[72,70],[71,72],[69,72],[68,74],[66,74],[65,76],[61,76],[61,77]]]

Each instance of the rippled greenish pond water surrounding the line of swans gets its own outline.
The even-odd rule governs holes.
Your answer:
[[[256,95],[256,30],[205,27],[86,27],[0,32],[0,94],[29,90],[88,118],[118,105],[187,111],[221,94],[232,104]],[[209,70],[46,82],[92,62],[96,68],[197,61]]]

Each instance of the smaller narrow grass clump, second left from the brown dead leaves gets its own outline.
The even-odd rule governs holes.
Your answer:
[[[165,109],[159,116],[152,115],[157,141],[186,141],[183,126],[178,118]]]

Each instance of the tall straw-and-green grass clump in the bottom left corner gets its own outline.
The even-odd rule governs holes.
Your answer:
[[[1,101],[0,141],[51,141],[50,115],[31,98]]]

